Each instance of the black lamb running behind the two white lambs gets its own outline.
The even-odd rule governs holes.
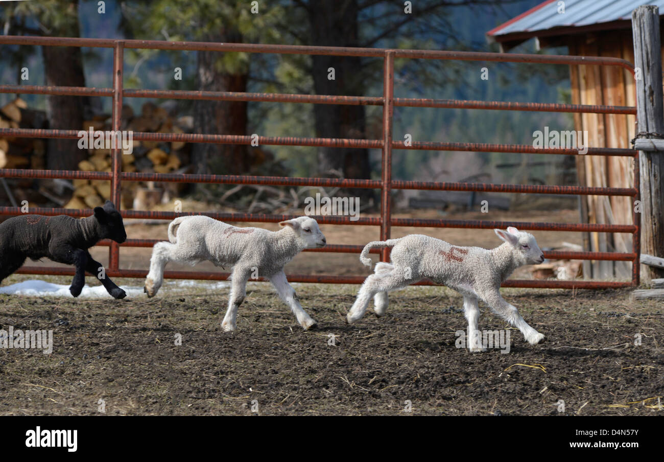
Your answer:
[[[101,239],[119,244],[127,240],[122,215],[111,201],[94,207],[94,215],[82,219],[58,215],[20,215],[0,223],[0,283],[19,269],[25,259],[46,257],[58,263],[76,266],[69,291],[79,296],[85,284],[85,272],[97,277],[115,298],[127,296],[106,277],[101,263],[94,261],[88,249]]]

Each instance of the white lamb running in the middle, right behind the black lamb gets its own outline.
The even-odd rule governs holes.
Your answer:
[[[268,231],[262,228],[240,228],[210,217],[178,217],[168,227],[170,242],[155,244],[144,291],[155,296],[163,283],[163,271],[169,261],[189,263],[211,261],[215,266],[233,267],[228,310],[221,323],[226,332],[236,328],[238,307],[246,296],[246,283],[251,277],[266,277],[279,296],[309,329],[315,320],[302,309],[295,290],[288,284],[284,265],[303,249],[325,247],[325,236],[313,218],[297,217],[279,223],[284,228]]]

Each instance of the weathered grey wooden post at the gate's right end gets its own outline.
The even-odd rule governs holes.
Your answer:
[[[637,108],[634,148],[639,150],[641,173],[641,253],[664,257],[664,96],[659,8],[643,5],[632,11],[631,27]],[[664,277],[664,271],[642,266],[641,275],[649,283]]]

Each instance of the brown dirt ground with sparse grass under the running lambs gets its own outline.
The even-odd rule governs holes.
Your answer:
[[[473,354],[455,347],[461,297],[444,287],[396,292],[386,316],[370,308],[349,326],[357,287],[296,285],[320,326],[305,332],[268,285],[250,283],[234,334],[220,328],[228,289],[165,289],[131,300],[0,295],[1,328],[51,329],[54,345],[0,349],[0,415],[100,415],[99,400],[107,415],[664,411],[662,306],[629,290],[505,289],[546,342],[511,330],[508,354]],[[479,325],[507,327],[484,308]]]

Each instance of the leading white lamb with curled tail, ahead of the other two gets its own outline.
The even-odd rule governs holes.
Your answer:
[[[428,278],[463,295],[463,310],[468,320],[467,338],[472,352],[485,351],[481,338],[475,334],[478,332],[478,299],[519,328],[531,345],[538,344],[544,335],[523,320],[519,310],[503,299],[499,289],[515,269],[542,263],[544,254],[530,233],[515,227],[507,228],[507,232],[501,229],[494,231],[505,243],[491,250],[457,247],[421,234],[370,242],[360,256],[362,263],[371,267],[368,255],[373,247],[394,247],[390,256],[392,263],[376,264],[374,274],[367,277],[357,294],[357,300],[347,315],[348,322],[352,324],[364,316],[371,297],[374,297],[376,315],[382,316],[388,306],[387,292]]]

